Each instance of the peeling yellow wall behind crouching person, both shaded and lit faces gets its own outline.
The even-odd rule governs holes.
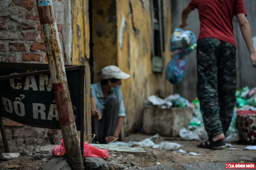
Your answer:
[[[115,4],[115,7],[113,7]],[[164,73],[152,71],[152,23],[150,0],[92,0],[93,70],[97,73],[107,65],[116,65],[131,75],[123,80],[121,90],[126,108],[126,131],[137,131],[142,126],[142,109],[147,97],[158,90],[163,96],[172,94],[172,85]],[[165,49],[171,36],[171,2],[163,0]],[[110,19],[113,18],[113,19]],[[171,60],[164,52],[164,67]]]

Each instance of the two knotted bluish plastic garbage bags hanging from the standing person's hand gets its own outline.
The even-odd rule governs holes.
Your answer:
[[[168,44],[168,50],[173,51],[173,59],[165,67],[165,78],[173,85],[184,78],[188,60],[183,58],[189,55],[196,46],[196,37],[193,32],[175,29]]]

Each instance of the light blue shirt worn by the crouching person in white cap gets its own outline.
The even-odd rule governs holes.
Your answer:
[[[110,97],[113,97],[118,100],[120,105],[118,117],[120,116],[126,117],[126,113],[123,105],[123,94],[121,90],[118,90],[117,92],[111,92],[107,97],[107,99],[105,99],[105,97],[102,94],[100,83],[95,83],[91,85],[91,95],[95,98],[97,109],[100,110],[101,115],[103,115],[103,110],[105,109],[107,99],[109,99]]]

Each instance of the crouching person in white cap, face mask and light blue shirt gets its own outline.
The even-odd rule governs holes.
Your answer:
[[[100,83],[91,85],[94,141],[105,144],[118,138],[126,117],[120,91],[121,80],[129,77],[129,74],[111,65],[102,69]]]

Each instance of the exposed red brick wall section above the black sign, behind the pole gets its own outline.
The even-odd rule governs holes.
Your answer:
[[[64,1],[53,3],[63,51]],[[36,1],[1,1],[0,16],[0,61],[47,63]],[[63,58],[65,61],[65,55]]]

